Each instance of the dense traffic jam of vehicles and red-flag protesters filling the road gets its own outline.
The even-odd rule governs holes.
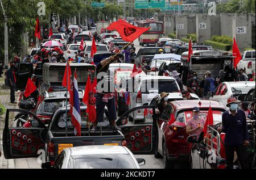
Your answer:
[[[165,37],[154,19],[73,24],[47,36],[31,61],[11,62],[19,99],[5,113],[6,159],[141,169],[151,155],[164,169],[255,169],[255,50],[237,60]]]

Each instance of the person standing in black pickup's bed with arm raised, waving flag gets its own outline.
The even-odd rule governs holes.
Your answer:
[[[93,123],[93,128],[90,132],[95,132],[97,129],[98,122],[104,122],[104,111],[105,106],[108,107],[109,112],[109,120],[112,124],[112,128],[114,131],[118,130],[117,124],[115,120],[117,119],[117,111],[115,108],[115,94],[114,90],[112,91],[112,81],[108,74],[109,64],[115,61],[114,57],[106,58],[102,60],[96,68],[96,76],[97,76],[97,94],[96,94],[96,122]],[[103,86],[102,86],[103,85]],[[107,87],[106,87],[107,86]],[[114,84],[113,84],[114,87]]]

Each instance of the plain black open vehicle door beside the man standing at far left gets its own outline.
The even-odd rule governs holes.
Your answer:
[[[17,67],[16,90],[24,90],[27,85],[27,79],[31,78],[33,73],[33,64],[29,62],[20,62]]]

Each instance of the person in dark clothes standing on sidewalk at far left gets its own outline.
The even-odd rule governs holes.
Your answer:
[[[13,61],[10,62],[10,69],[7,70],[7,80],[9,82],[10,91],[11,91],[11,103],[16,104],[15,102],[15,63]]]

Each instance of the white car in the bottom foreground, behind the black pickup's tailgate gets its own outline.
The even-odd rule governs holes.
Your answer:
[[[126,146],[88,145],[64,149],[53,167],[43,163],[43,169],[141,169],[144,159],[136,159]]]

